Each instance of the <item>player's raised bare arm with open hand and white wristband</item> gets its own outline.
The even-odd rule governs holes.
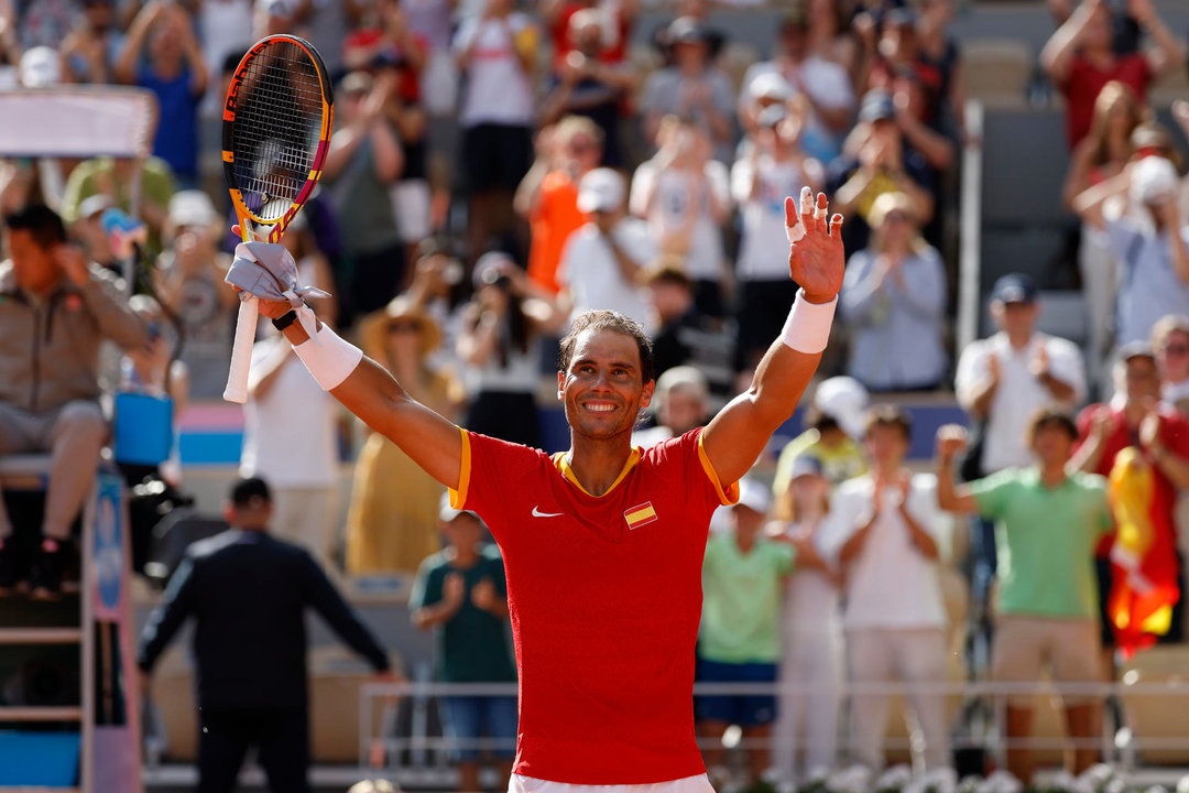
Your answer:
[[[702,443],[723,484],[755,464],[772,434],[788,421],[825,350],[845,269],[842,215],[830,218],[825,194],[801,191],[800,214],[785,200],[789,227],[788,271],[801,289],[780,338],[755,370],[751,386],[706,427]]]

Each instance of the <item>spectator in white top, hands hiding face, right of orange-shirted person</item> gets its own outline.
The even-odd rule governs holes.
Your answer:
[[[724,314],[723,232],[730,213],[730,176],[711,157],[710,138],[688,119],[668,117],[656,133],[660,150],[631,177],[631,214],[648,221],[662,253],[685,259],[698,310]]]

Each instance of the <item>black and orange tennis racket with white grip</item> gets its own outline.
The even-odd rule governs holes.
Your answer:
[[[331,145],[334,93],[314,45],[296,36],[257,42],[235,69],[224,106],[224,177],[245,243],[256,226],[276,243],[314,194]],[[262,229],[263,232],[263,229]],[[239,304],[224,399],[247,401],[258,307]]]

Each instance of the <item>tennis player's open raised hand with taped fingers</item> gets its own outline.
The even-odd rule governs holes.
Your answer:
[[[842,289],[847,256],[842,248],[842,215],[830,216],[824,193],[817,202],[810,188],[801,189],[800,207],[785,199],[788,231],[788,275],[805,290],[811,303],[829,303]]]

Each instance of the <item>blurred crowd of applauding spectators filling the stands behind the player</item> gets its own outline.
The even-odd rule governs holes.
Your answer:
[[[1189,97],[1172,108],[1179,130],[1146,97],[1185,69],[1185,46],[1151,0],[1050,5],[1039,62],[1065,99],[1070,152],[1052,200],[1082,224],[1086,348],[1038,329],[1044,297],[1023,273],[984,296],[993,335],[950,342],[946,185],[961,147],[977,144],[948,32],[954,0],[801,0],[774,11],[766,42],[730,40],[704,0],[0,0],[0,86],[139,86],[159,113],[139,170],[0,159],[0,455],[52,457],[30,558],[0,502],[0,592],[26,578],[57,592],[105,442],[105,390],[168,395],[178,409],[221,395],[237,239],[207,133],[246,48],[285,32],[317,45],[336,90],[319,193],[284,237],[303,283],[332,295],[319,316],[478,433],[545,443],[556,340],[590,308],[654,340],[640,442],[699,426],[747,388],[795,295],[785,196],[824,190],[845,215],[835,344],[804,434],[744,482],[706,550],[702,679],[801,686],[779,700],[699,699],[711,743],[731,724],[776,736],[770,757],[753,756],[753,781],[769,767],[804,779],[839,753],[880,766],[880,686],[893,681],[913,692],[917,761],[950,763],[943,698],[912,686],[954,679],[965,625],[945,575],[968,520],[971,624],[995,625],[995,680],[1050,665],[1058,680],[1101,681],[1113,674],[1103,647],[1179,641],[1189,181],[1177,143]],[[644,11],[667,20],[641,30]],[[772,56],[740,63],[732,44]],[[132,301],[100,225],[111,208],[146,227]],[[492,650],[507,606],[480,527],[441,509],[441,487],[389,440],[350,426],[271,328],[259,338],[240,473],[271,484],[275,531],[350,575],[420,568],[413,617],[442,629],[454,656],[443,679],[509,679],[468,666],[459,638],[508,652]],[[101,339],[126,352],[122,378],[103,375]],[[882,396],[950,390],[969,430],[939,434],[936,473],[910,468],[911,421]],[[176,460],[161,473],[183,484]],[[1127,547],[1122,529],[1137,524],[1150,542]],[[860,693],[843,731],[848,681]],[[1096,734],[1096,701],[1065,705],[1071,735]],[[501,703],[451,707],[459,737],[479,723],[509,732]],[[1007,718],[1009,735],[1030,731],[1026,704]],[[472,773],[474,756],[463,760]],[[1009,761],[1028,778],[1024,750]]]

